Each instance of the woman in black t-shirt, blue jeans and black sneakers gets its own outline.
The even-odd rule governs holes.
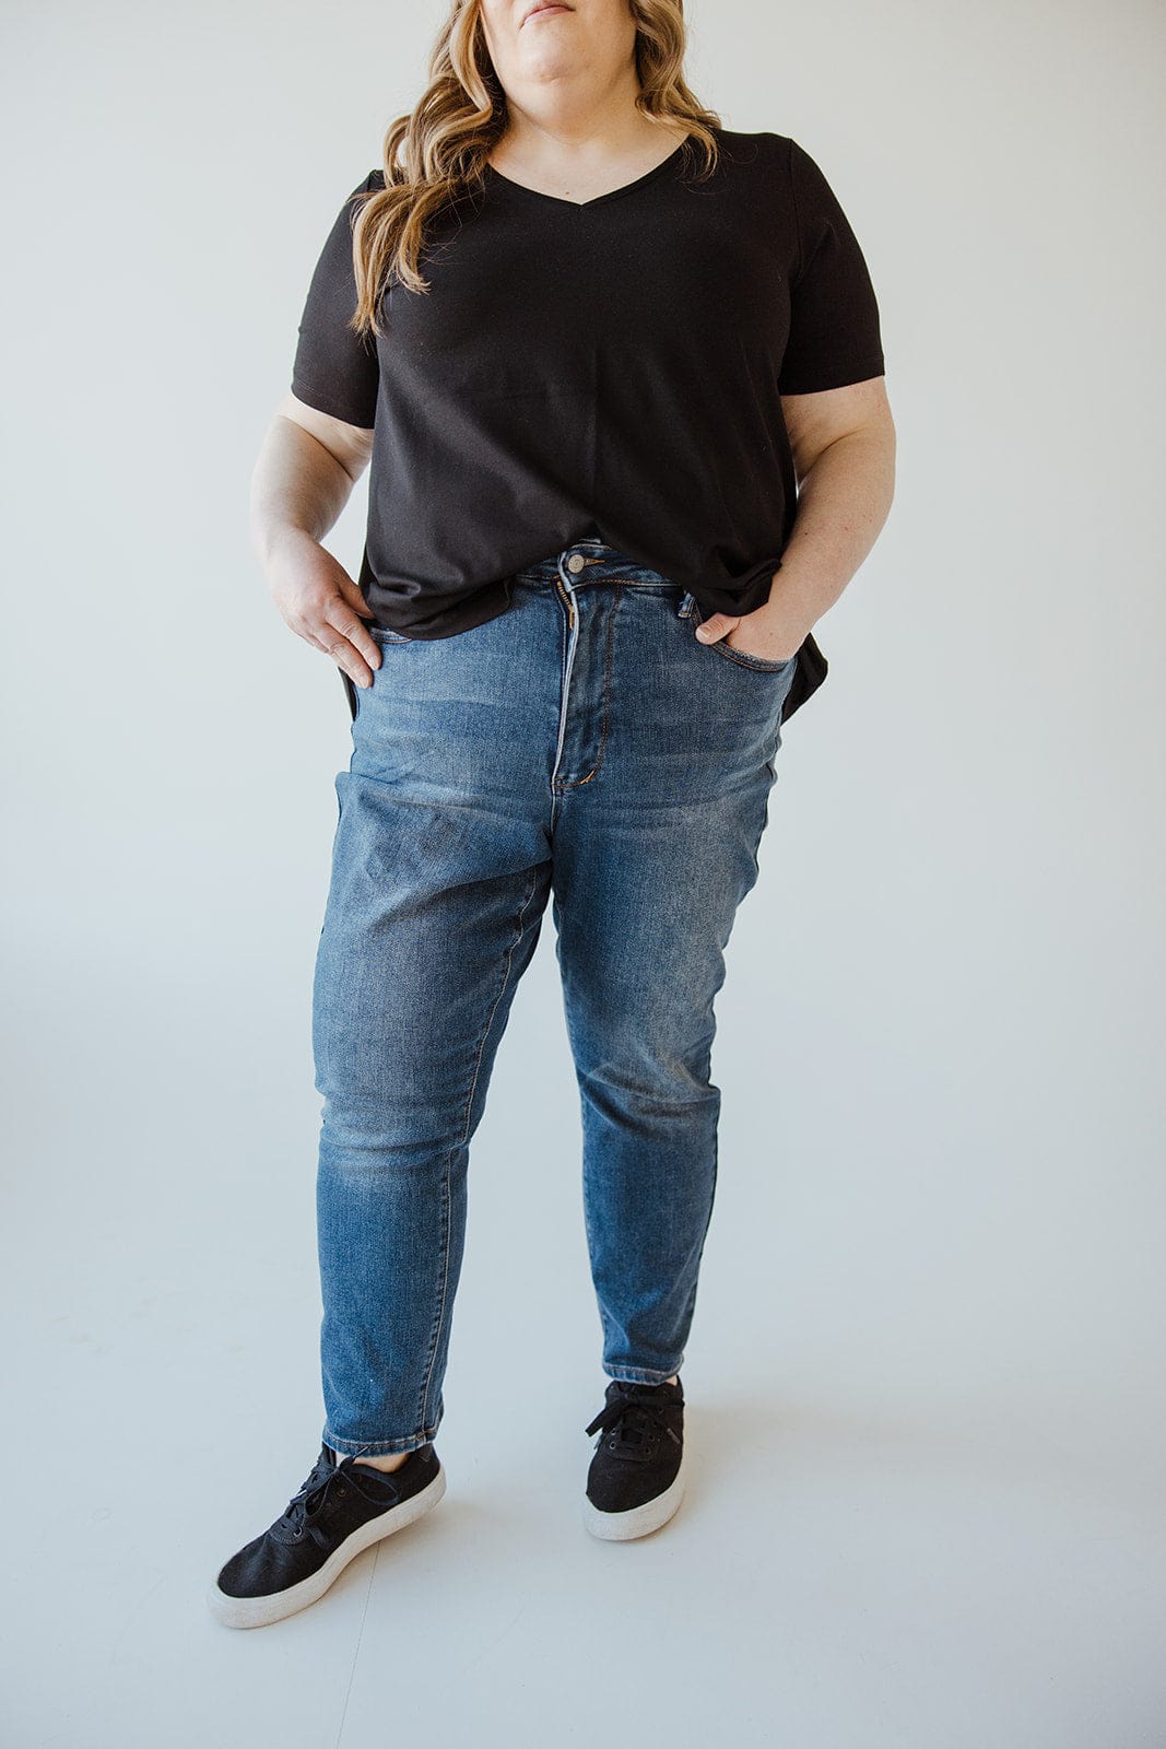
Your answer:
[[[584,1522],[680,1504],[713,997],[895,446],[837,199],[701,108],[684,45],[682,0],[453,0],[257,465],[257,553],[341,670],[353,757],[313,992],[323,1446],[220,1569],[233,1627],[444,1494],[468,1142],[549,899],[608,1378]],[[369,462],[353,582],[320,540]]]

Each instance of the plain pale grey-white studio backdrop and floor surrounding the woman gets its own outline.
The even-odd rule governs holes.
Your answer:
[[[350,752],[246,490],[442,7],[5,9],[7,1742],[1163,1742],[1163,12],[687,10],[698,96],[839,192],[899,427],[729,948],[691,1499],[580,1546],[547,913],[474,1142],[446,1518],[229,1635],[205,1583],[322,1424]]]

